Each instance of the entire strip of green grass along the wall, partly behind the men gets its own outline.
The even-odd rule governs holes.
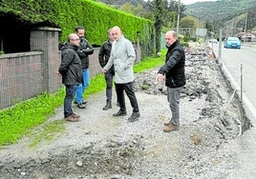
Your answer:
[[[164,63],[163,59],[162,55],[145,58],[134,66],[134,71],[143,72],[159,67]],[[104,75],[97,74],[91,78],[90,86],[86,89],[84,98],[89,98],[91,94],[100,92],[105,88]],[[35,136],[31,147],[36,146],[42,140],[53,139],[54,133],[57,134],[63,130],[64,123],[62,124],[57,120],[45,126],[45,122],[53,115],[55,108],[63,105],[64,95],[64,88],[53,94],[43,92],[30,100],[18,103],[10,109],[0,110],[0,148],[4,145],[16,143],[24,135],[30,135],[32,129],[35,128],[41,128],[42,131]]]

